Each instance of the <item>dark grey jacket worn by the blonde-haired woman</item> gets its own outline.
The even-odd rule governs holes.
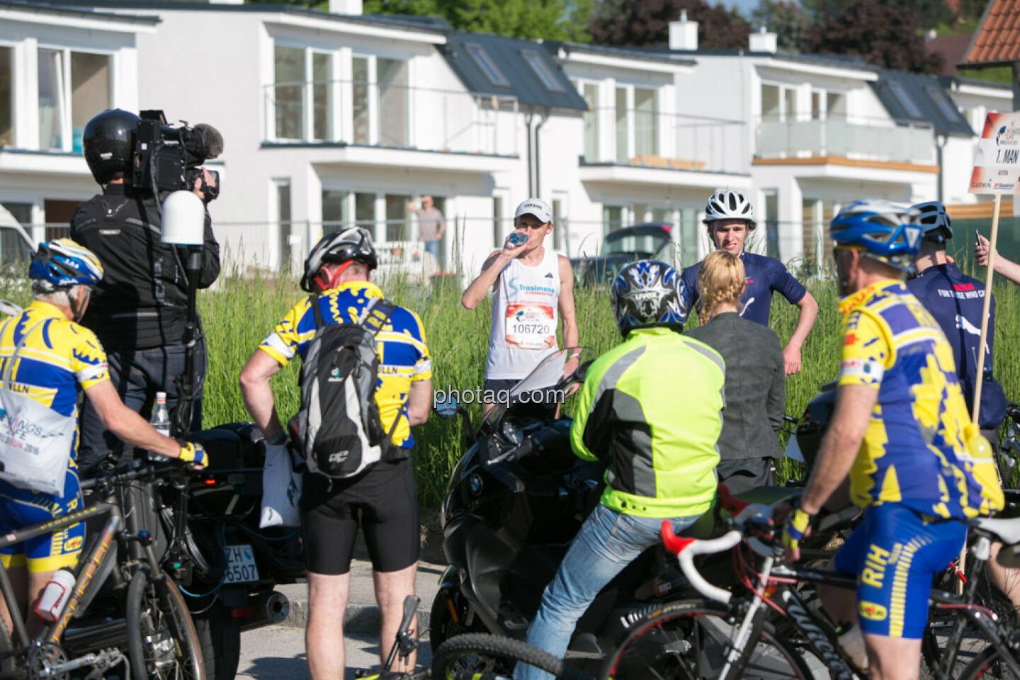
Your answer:
[[[775,332],[735,312],[723,312],[683,334],[705,343],[726,362],[722,460],[781,456],[776,433],[782,428],[785,375]]]

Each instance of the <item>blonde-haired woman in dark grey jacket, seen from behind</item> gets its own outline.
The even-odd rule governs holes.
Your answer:
[[[697,328],[684,332],[726,362],[726,409],[719,435],[719,481],[732,492],[774,483],[772,459],[781,455],[777,433],[783,415],[782,347],[775,332],[741,317],[747,286],[744,263],[717,250],[698,272]]]

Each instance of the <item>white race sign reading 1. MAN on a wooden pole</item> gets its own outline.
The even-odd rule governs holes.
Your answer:
[[[974,152],[971,194],[1020,194],[1020,113],[988,113]]]

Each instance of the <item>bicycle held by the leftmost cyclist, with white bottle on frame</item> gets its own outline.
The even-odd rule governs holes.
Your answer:
[[[158,466],[141,461],[107,470],[84,480],[83,489],[96,488],[101,503],[63,517],[23,527],[0,537],[0,547],[66,529],[79,522],[107,517],[102,530],[73,571],[74,586],[60,617],[42,626],[30,638],[24,618],[6,568],[0,566],[0,594],[7,604],[13,638],[0,626],[0,680],[65,678],[90,668],[89,680],[123,665],[133,680],[172,676],[204,680],[198,640],[191,617],[176,587],[160,571],[147,532],[125,529],[124,514],[114,501],[118,488],[131,480],[155,478],[178,464]],[[132,545],[142,560],[131,557]],[[114,597],[96,600],[110,583]],[[81,619],[82,625],[71,627]],[[124,649],[126,648],[126,656]]]

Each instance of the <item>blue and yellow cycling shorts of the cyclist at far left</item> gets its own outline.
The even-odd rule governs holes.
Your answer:
[[[0,534],[49,522],[82,508],[76,469],[67,470],[62,496],[38,493],[0,481]],[[2,547],[0,560],[8,568],[28,563],[29,571],[33,573],[54,571],[61,567],[73,567],[84,542],[85,524],[79,522],[66,529]]]

